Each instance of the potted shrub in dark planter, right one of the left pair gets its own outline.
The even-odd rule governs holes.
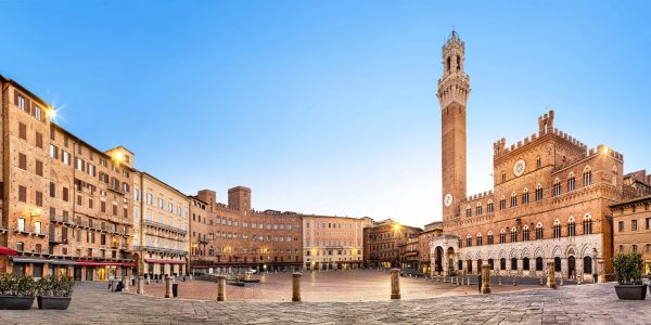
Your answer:
[[[49,275],[41,277],[37,287],[36,301],[38,308],[65,310],[71,306],[75,281],[69,276],[54,277]]]

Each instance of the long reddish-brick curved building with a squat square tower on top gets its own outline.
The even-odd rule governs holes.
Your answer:
[[[303,265],[302,214],[256,211],[245,186],[228,191],[228,205],[209,190],[192,199],[192,272],[291,271]]]

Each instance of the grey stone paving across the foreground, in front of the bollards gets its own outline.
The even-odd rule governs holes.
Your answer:
[[[370,272],[370,271],[366,271]],[[352,291],[360,284],[350,280]],[[341,274],[321,274],[323,282],[336,282]],[[332,277],[330,277],[332,276]],[[371,282],[387,275],[368,275]],[[307,277],[307,276],[306,276]],[[281,278],[279,275],[278,278]],[[443,284],[401,278],[411,292],[437,290]],[[199,282],[196,282],[199,283]],[[342,282],[343,283],[343,282]],[[346,282],[348,283],[348,282]],[[307,287],[307,283],[303,283]],[[563,286],[557,290],[531,286],[520,291],[490,295],[456,295],[363,302],[261,302],[195,299],[164,299],[124,292],[108,292],[103,283],[78,284],[67,311],[0,311],[0,324],[649,324],[651,301],[623,301],[613,283]],[[261,285],[264,286],[264,285]],[[152,287],[151,285],[148,288]],[[507,286],[502,286],[506,288]],[[512,287],[512,286],[511,286]],[[494,286],[494,288],[496,288]],[[388,286],[386,297],[388,297]],[[411,290],[411,289],[410,289]],[[404,290],[410,298],[410,290]],[[423,289],[424,290],[424,289]],[[317,290],[315,290],[317,291]],[[323,295],[346,295],[323,291]],[[420,294],[419,294],[420,295]],[[436,295],[436,294],[434,294]],[[36,304],[35,304],[36,306]]]

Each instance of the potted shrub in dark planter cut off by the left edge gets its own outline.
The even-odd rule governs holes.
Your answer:
[[[31,276],[0,274],[0,309],[26,310],[34,304],[36,284]]]

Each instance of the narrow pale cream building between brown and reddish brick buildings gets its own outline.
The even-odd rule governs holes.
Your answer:
[[[135,173],[133,245],[139,274],[152,278],[187,274],[190,199],[146,172]]]

